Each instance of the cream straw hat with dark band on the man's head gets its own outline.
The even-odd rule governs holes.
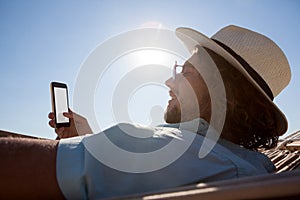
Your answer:
[[[211,38],[190,28],[177,28],[176,35],[190,52],[200,45],[236,67],[269,100],[276,116],[278,134],[286,132],[286,117],[273,99],[288,85],[291,71],[283,51],[271,39],[234,25],[224,27]]]

